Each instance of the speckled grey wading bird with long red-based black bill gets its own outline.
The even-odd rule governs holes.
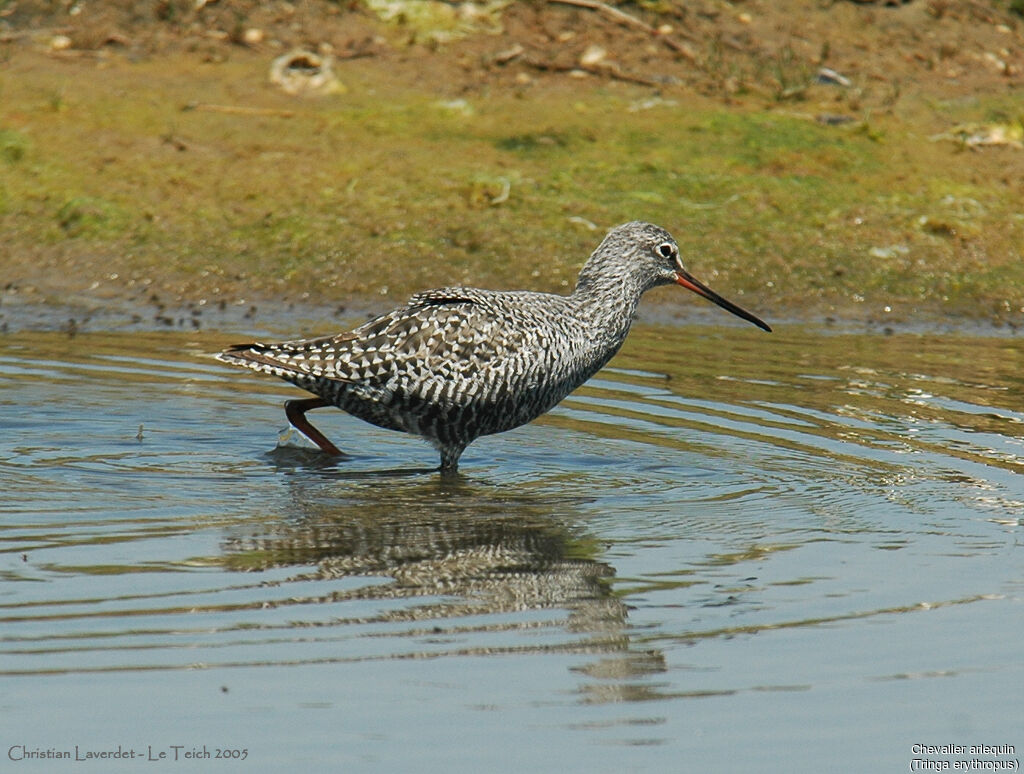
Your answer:
[[[770,330],[686,273],[668,231],[633,222],[608,233],[569,296],[443,288],[350,333],[217,357],[319,396],[291,401],[305,407],[289,419],[325,450],[337,453],[303,415],[333,404],[427,438],[441,469],[454,469],[470,442],[540,417],[596,374],[626,340],[643,293],[672,283]]]

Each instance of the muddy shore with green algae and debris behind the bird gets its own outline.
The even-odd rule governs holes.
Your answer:
[[[565,292],[630,219],[768,316],[1024,322],[1013,3],[435,10],[0,6],[0,326],[330,328],[428,287]],[[272,80],[298,49],[326,87]]]

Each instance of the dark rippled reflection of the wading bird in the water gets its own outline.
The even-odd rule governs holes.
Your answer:
[[[628,607],[610,585],[614,569],[601,560],[597,539],[580,526],[585,500],[536,491],[528,483],[510,492],[464,478],[424,480],[419,471],[309,472],[291,472],[287,517],[228,539],[229,566],[314,565],[294,578],[298,583],[373,578],[306,601],[380,601],[369,610],[353,606],[356,614],[331,618],[330,626],[358,626],[365,634],[368,625],[408,621],[415,626],[398,635],[408,645],[423,648],[423,638],[433,638],[433,649],[402,647],[395,657],[596,653],[599,661],[573,668],[600,683],[599,689],[582,686],[582,700],[651,697],[628,681],[664,672],[664,658],[631,648]],[[538,610],[555,615],[540,618],[532,614]],[[393,628],[387,635],[395,636]],[[446,644],[456,649],[436,649],[455,636],[457,642]]]

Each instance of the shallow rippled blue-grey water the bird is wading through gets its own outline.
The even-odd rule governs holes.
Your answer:
[[[279,447],[299,393],[205,355],[238,338],[0,338],[9,758],[1024,757],[1018,339],[641,328],[442,478],[426,444],[339,412],[311,416],[349,459]]]

